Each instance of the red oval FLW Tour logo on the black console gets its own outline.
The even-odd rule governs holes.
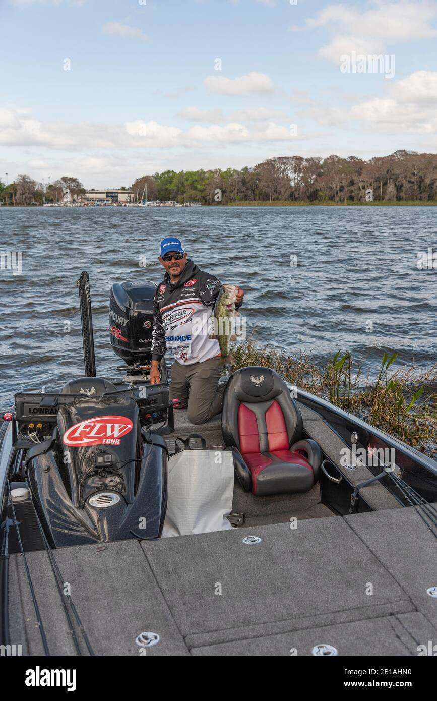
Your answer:
[[[96,416],[75,423],[65,433],[62,441],[73,447],[90,445],[120,445],[121,439],[132,430],[133,424],[126,416]]]

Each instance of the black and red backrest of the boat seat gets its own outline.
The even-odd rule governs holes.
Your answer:
[[[231,376],[223,395],[223,439],[240,453],[288,450],[303,422],[290,390],[275,370],[244,367]]]

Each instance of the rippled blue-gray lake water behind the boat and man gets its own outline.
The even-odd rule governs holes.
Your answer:
[[[436,207],[0,207],[0,252],[23,256],[22,275],[0,271],[2,407],[15,391],[83,374],[83,270],[97,372],[114,374],[109,290],[158,283],[158,244],[169,234],[201,268],[244,288],[247,332],[262,343],[311,351],[320,365],[342,348],[370,373],[384,350],[398,351],[401,365],[437,360],[437,270],[417,269],[419,251],[437,251]]]

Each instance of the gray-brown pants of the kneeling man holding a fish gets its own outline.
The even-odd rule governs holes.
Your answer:
[[[188,421],[206,423],[219,414],[223,394],[217,390],[221,376],[220,358],[210,358],[193,365],[172,365],[170,399],[179,399],[179,409],[187,409]]]

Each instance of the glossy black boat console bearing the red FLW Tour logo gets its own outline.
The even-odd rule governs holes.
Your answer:
[[[158,538],[167,506],[167,448],[162,437],[141,428],[132,391],[85,377],[68,383],[52,403],[52,440],[35,445],[26,460],[51,545]]]

